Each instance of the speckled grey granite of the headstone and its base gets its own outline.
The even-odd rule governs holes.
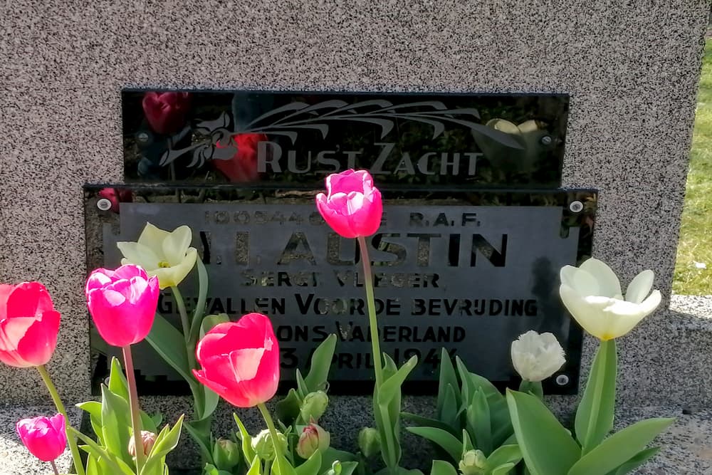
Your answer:
[[[536,91],[571,95],[563,184],[600,190],[595,255],[624,281],[653,268],[667,295],[708,11],[707,0],[5,2],[0,281],[47,284],[63,314],[49,369],[68,401],[85,400],[81,185],[122,179],[121,88]],[[621,400],[710,404],[706,328],[662,310],[624,338]],[[0,366],[0,402],[42,402],[38,383]]]

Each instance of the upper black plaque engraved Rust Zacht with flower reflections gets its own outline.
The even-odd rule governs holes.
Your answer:
[[[320,186],[370,169],[403,187],[560,186],[567,95],[122,93],[130,182]]]

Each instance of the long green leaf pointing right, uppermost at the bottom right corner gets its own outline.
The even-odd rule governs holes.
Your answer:
[[[636,422],[604,439],[597,447],[582,456],[568,475],[606,475],[625,464],[663,432],[675,419],[647,419]]]

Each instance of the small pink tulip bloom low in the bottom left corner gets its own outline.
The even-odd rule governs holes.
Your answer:
[[[66,422],[62,414],[22,419],[15,428],[31,454],[41,461],[52,461],[67,447]]]

